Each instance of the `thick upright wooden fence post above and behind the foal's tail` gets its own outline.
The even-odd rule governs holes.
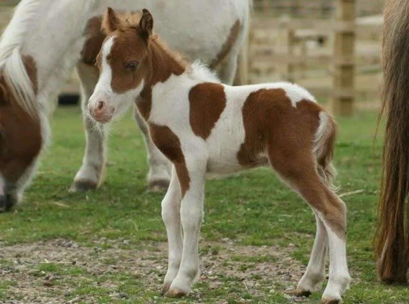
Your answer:
[[[353,114],[355,4],[355,0],[337,0],[332,98],[336,115]]]

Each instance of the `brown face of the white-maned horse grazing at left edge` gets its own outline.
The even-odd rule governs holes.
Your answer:
[[[25,64],[30,63],[27,58]],[[33,71],[27,72],[35,82]],[[0,133],[0,172],[13,183],[40,152],[42,137],[38,118],[19,106],[4,75],[0,77]]]

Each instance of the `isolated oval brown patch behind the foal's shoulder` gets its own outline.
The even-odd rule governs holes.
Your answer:
[[[202,83],[189,91],[189,121],[193,133],[206,139],[226,107],[224,88],[218,83]]]

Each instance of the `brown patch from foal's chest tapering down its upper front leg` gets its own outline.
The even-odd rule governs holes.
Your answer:
[[[172,161],[180,182],[182,198],[189,190],[190,177],[186,168],[186,161],[183,155],[179,138],[166,125],[149,124],[150,137],[158,149]]]

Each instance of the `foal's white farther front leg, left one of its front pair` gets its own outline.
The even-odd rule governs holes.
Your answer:
[[[169,247],[167,273],[165,276],[162,294],[165,294],[178,274],[182,260],[183,239],[180,223],[180,184],[175,167],[172,167],[172,177],[169,188],[162,200],[162,218],[166,226],[167,243]]]

